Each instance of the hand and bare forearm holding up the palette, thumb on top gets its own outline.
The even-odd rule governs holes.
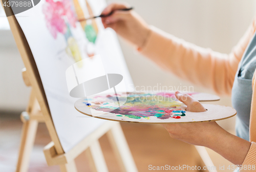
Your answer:
[[[187,105],[187,111],[205,111],[193,97],[176,92],[176,97]],[[184,142],[205,146],[222,155],[230,162],[241,165],[250,148],[250,142],[234,136],[216,122],[163,124],[170,137]]]

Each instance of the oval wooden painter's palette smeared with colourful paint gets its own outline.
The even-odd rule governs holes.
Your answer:
[[[82,114],[101,119],[142,123],[211,121],[236,114],[231,107],[204,105],[206,112],[193,113],[186,111],[186,105],[173,93],[121,93],[82,98],[76,101],[75,108]],[[224,114],[224,110],[230,111]]]

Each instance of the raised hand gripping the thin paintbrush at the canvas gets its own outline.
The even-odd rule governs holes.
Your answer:
[[[112,28],[121,37],[138,48],[142,48],[150,29],[144,20],[133,10],[118,11],[118,9],[130,8],[124,3],[113,3],[106,7],[101,14],[106,15],[114,11],[108,17],[102,17],[102,24],[105,28]]]

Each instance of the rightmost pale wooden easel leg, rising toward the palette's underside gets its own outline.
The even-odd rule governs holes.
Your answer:
[[[114,153],[120,164],[122,171],[136,172],[137,167],[133,160],[133,156],[130,152],[129,146],[125,140],[122,127],[120,123],[114,125],[111,130],[107,133],[110,140]]]

